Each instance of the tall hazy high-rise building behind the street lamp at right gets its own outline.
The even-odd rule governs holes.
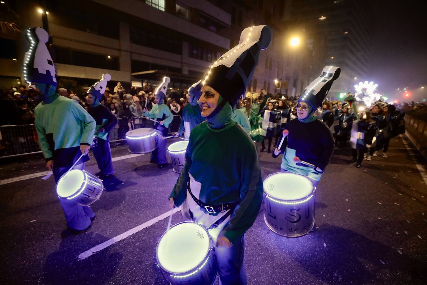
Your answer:
[[[374,23],[366,0],[293,0],[290,21],[318,38],[325,51],[322,65],[341,68],[330,93],[354,92],[354,84],[366,78]]]

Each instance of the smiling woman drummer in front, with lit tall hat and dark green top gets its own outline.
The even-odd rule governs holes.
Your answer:
[[[245,93],[260,51],[271,41],[268,26],[243,30],[202,80],[202,117],[190,134],[185,165],[170,195],[187,220],[210,231],[222,284],[246,284],[245,232],[259,212],[263,183],[255,145],[234,120],[231,108]]]

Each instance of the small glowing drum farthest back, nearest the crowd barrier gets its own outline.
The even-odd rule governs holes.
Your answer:
[[[131,153],[151,153],[157,148],[155,129],[140,128],[126,132],[128,149]]]

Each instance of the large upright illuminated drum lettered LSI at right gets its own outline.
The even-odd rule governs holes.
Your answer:
[[[264,221],[273,232],[289,238],[307,234],[314,226],[316,187],[304,175],[278,172],[266,177]]]

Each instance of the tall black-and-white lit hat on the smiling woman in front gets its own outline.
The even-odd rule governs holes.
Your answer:
[[[211,86],[225,99],[215,111],[219,112],[226,102],[234,107],[240,96],[245,94],[260,52],[270,45],[271,39],[272,32],[268,26],[246,28],[240,34],[239,44],[211,65],[202,85]]]

